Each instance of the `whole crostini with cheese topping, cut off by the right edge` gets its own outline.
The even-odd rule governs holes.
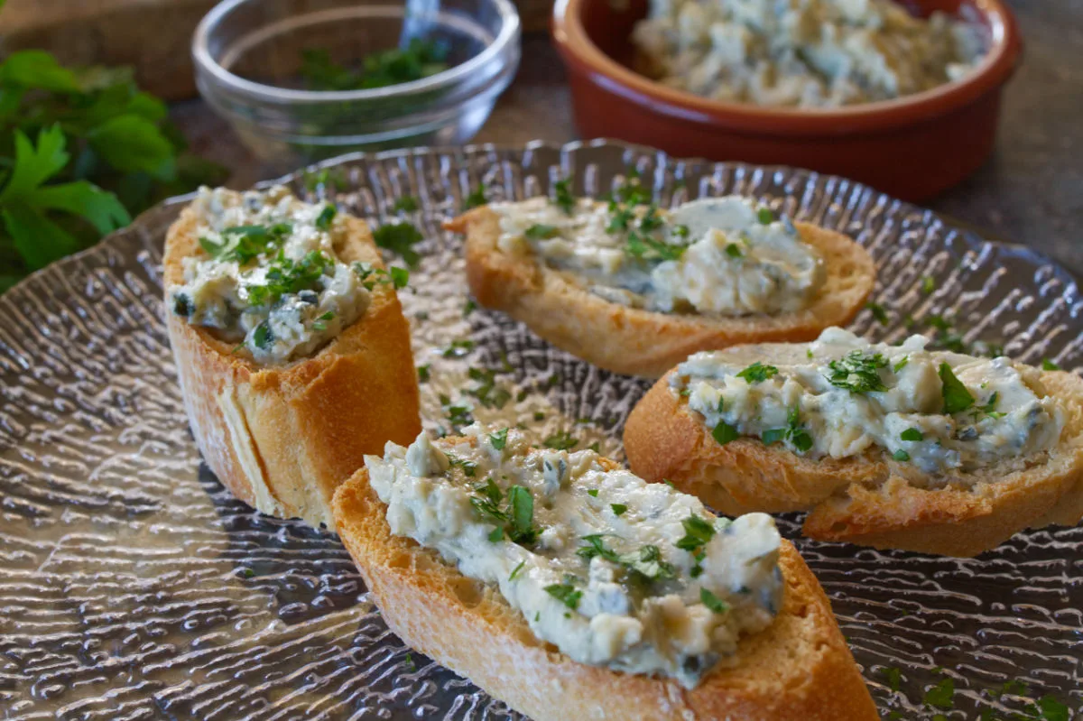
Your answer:
[[[809,511],[805,534],[970,556],[1083,516],[1083,379],[1007,357],[869,343],[702,353],[624,432],[632,471],[723,513]]]

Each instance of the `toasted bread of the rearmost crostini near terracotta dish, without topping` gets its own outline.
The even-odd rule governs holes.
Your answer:
[[[740,343],[813,340],[843,326],[862,309],[876,281],[869,253],[845,235],[796,223],[824,257],[827,279],[797,313],[708,318],[657,313],[611,303],[567,274],[531,257],[497,248],[499,215],[477,208],[444,227],[465,233],[470,291],[485,307],[504,311],[557,348],[592,365],[628,376],[657,378],[689,355]]]

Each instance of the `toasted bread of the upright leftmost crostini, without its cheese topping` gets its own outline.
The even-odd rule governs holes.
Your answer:
[[[345,262],[383,267],[368,226],[345,224]],[[181,259],[198,250],[190,208],[166,239],[165,285],[183,283]],[[168,306],[168,303],[167,303]],[[233,343],[167,311],[184,407],[207,464],[234,496],[263,513],[335,529],[335,488],[382,453],[421,430],[409,327],[390,284],[351,326],[312,357],[263,367]]]

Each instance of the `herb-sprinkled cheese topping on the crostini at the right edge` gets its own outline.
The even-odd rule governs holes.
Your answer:
[[[812,343],[769,346],[769,356],[758,346],[696,353],[670,386],[720,443],[754,436],[814,458],[883,450],[944,473],[1056,444],[1064,410],[1036,368],[928,343],[871,344],[828,328]]]

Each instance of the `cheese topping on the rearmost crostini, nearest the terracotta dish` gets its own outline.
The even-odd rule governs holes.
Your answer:
[[[574,204],[574,205],[573,205]],[[746,198],[674,210],[547,198],[493,204],[498,247],[539,255],[605,300],[663,313],[738,316],[797,311],[825,279],[815,248],[787,218]]]

